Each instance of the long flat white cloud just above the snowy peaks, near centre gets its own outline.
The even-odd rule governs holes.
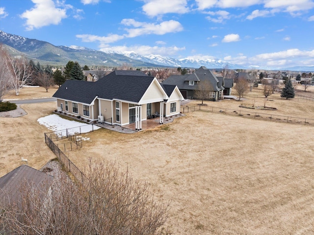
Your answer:
[[[157,47],[157,46],[115,46],[115,47],[105,47],[100,49],[100,51],[114,51],[114,52],[136,52],[140,55],[150,55],[150,54],[159,54],[162,56],[173,56],[180,51],[184,51],[185,47],[178,48],[176,46],[173,47]]]

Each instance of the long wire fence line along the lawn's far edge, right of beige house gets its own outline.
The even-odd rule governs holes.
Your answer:
[[[311,118],[290,117],[290,116],[282,116],[282,115],[276,115],[276,114],[252,112],[252,111],[247,111],[245,109],[238,110],[238,109],[202,106],[202,105],[181,107],[182,113],[188,113],[188,112],[194,112],[194,111],[205,111],[205,112],[212,112],[212,113],[237,115],[237,116],[255,118],[255,119],[260,119],[260,120],[270,120],[270,121],[277,121],[277,122],[287,122],[287,123],[296,123],[296,124],[314,126],[314,119],[311,119]]]

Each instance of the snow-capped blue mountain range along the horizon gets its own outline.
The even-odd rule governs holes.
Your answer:
[[[132,67],[183,67],[208,69],[222,69],[228,65],[229,69],[251,69],[223,60],[183,58],[175,59],[160,55],[142,56],[136,52],[113,52],[93,50],[78,46],[54,46],[49,42],[29,39],[22,36],[6,33],[0,30],[0,43],[5,45],[13,56],[24,55],[41,64],[66,65],[69,60],[78,61],[83,66],[119,67],[124,64]],[[256,68],[259,68],[256,66]],[[261,68],[262,69],[262,68]],[[294,67],[284,70],[314,71],[312,67]]]

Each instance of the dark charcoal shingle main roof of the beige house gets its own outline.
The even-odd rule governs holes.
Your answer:
[[[95,82],[66,80],[53,97],[91,104],[96,96],[138,103],[154,77],[140,71],[113,71]]]

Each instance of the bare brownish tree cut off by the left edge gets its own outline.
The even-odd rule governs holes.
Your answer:
[[[10,85],[10,74],[7,69],[7,62],[9,55],[3,45],[0,45],[0,101],[2,97],[6,95],[11,89]]]

